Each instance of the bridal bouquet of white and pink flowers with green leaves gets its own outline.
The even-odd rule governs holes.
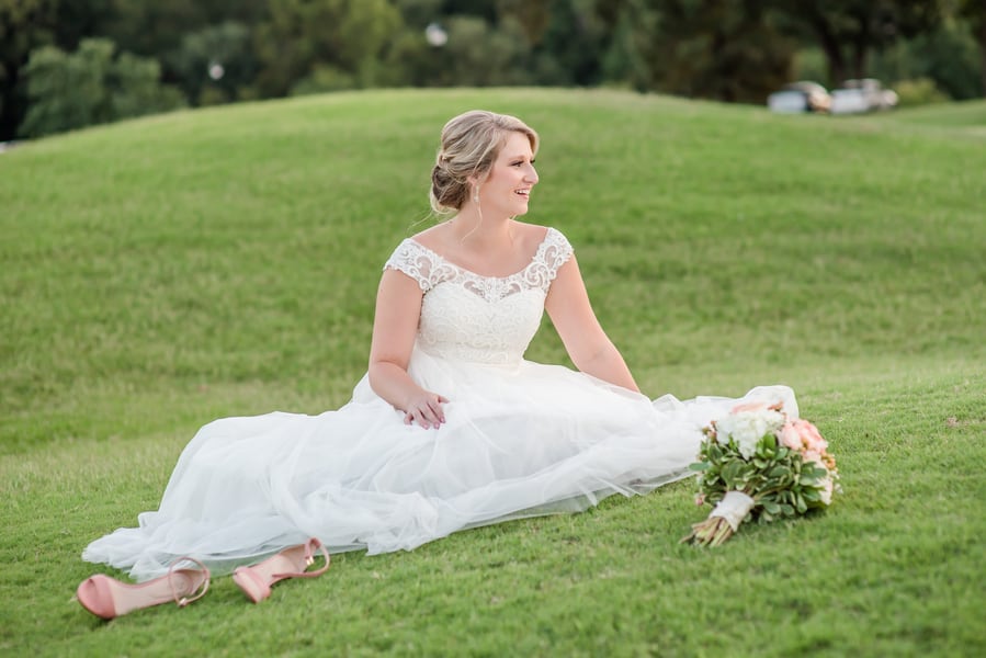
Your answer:
[[[747,519],[769,523],[831,504],[841,491],[828,442],[806,420],[791,419],[780,402],[735,407],[704,430],[698,504],[715,504],[682,543],[718,546]]]

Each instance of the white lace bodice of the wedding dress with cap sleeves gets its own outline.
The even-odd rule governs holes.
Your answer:
[[[510,364],[534,338],[548,287],[571,253],[565,236],[548,228],[523,270],[480,276],[408,238],[384,269],[404,272],[424,292],[419,349],[446,359]]]

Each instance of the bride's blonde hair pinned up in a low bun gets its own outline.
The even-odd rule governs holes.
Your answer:
[[[431,170],[431,209],[449,215],[462,209],[469,197],[469,179],[481,179],[492,168],[510,133],[520,133],[537,152],[537,133],[509,114],[473,110],[449,121]]]

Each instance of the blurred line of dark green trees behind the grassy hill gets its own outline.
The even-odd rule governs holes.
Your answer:
[[[373,87],[986,90],[983,0],[0,0],[0,140]]]

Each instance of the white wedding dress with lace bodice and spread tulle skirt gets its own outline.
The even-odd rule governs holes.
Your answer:
[[[523,359],[571,252],[548,229],[524,270],[489,277],[405,240],[385,268],[424,292],[409,372],[449,398],[440,429],[405,424],[366,377],[352,401],[319,416],[216,420],[185,447],[159,510],[94,541],[83,559],[146,580],[177,556],[226,571],[311,536],[330,553],[411,549],[687,476],[702,427],[737,400],[651,401]],[[797,413],[784,386],[744,399],[783,399]]]

